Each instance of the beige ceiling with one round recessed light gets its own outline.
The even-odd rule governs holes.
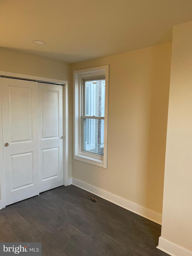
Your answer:
[[[0,0],[0,47],[73,63],[170,42],[190,20],[192,0]]]

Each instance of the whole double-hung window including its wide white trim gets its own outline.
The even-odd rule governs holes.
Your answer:
[[[74,71],[73,158],[107,168],[109,66]]]

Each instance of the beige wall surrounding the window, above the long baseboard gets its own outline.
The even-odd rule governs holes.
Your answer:
[[[76,63],[110,65],[108,168],[72,160],[72,176],[162,213],[172,44]]]

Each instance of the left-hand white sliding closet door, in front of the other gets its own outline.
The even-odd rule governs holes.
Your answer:
[[[39,194],[38,84],[1,78],[1,88],[5,200],[9,205]]]

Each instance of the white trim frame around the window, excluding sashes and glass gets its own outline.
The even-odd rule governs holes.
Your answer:
[[[104,155],[82,151],[82,79],[105,76]],[[109,65],[73,71],[73,159],[107,168]]]

